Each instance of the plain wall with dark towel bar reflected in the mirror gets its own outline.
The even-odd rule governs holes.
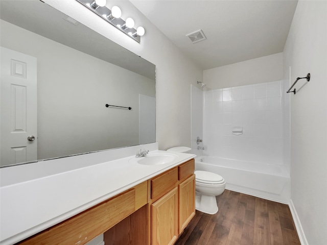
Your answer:
[[[139,143],[139,94],[155,96],[153,80],[3,20],[1,32],[2,46],[37,58],[38,159]]]

